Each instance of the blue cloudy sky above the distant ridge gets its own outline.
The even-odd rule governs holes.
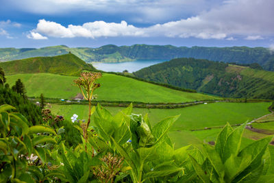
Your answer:
[[[0,0],[0,47],[270,47],[273,0]]]

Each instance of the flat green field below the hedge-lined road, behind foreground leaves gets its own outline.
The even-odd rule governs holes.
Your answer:
[[[203,141],[214,141],[220,129],[201,130],[192,132],[190,130],[203,129],[204,127],[223,126],[230,124],[245,123],[264,114],[269,114],[267,107],[271,103],[209,103],[198,106],[177,109],[145,109],[134,108],[136,114],[149,114],[152,125],[160,120],[180,114],[179,119],[171,127],[170,136],[175,147],[186,144],[199,144]],[[88,106],[84,105],[51,105],[53,114],[64,115],[70,119],[77,114],[79,119],[87,119]],[[106,107],[112,114],[116,114],[123,108]]]

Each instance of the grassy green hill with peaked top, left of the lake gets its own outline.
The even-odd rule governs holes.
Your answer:
[[[96,69],[77,56],[69,53],[54,57],[26,58],[10,62],[0,62],[6,75],[18,73],[55,73],[62,75],[77,75],[84,70],[95,71]]]

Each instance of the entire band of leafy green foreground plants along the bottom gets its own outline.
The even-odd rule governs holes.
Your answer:
[[[245,124],[233,129],[227,123],[213,146],[174,149],[168,132],[178,116],[152,126],[147,116],[132,114],[132,106],[113,116],[98,104],[91,110],[96,112],[94,127],[73,119],[71,127],[79,131],[73,136],[82,137],[75,147],[66,144],[67,131],[58,125],[64,119],[30,126],[10,110],[15,108],[0,106],[1,121],[8,122],[0,123],[1,182],[271,182],[273,178],[268,147],[273,136],[241,147]]]

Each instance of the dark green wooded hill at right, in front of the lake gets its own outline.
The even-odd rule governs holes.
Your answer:
[[[223,97],[272,99],[274,94],[274,72],[195,58],[155,64],[134,75]]]

